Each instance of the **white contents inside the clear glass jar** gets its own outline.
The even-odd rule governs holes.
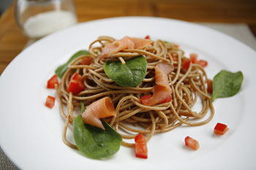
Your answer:
[[[77,22],[75,15],[69,11],[49,11],[30,17],[23,25],[25,34],[38,39],[61,28],[72,26]]]

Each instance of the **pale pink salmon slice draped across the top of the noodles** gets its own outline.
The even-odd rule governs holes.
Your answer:
[[[150,39],[140,39],[132,38],[129,36],[124,36],[120,40],[116,40],[113,43],[109,43],[103,47],[102,52],[99,54],[99,59],[108,57],[109,55],[118,53],[121,50],[125,49],[142,49],[151,45],[152,41]]]

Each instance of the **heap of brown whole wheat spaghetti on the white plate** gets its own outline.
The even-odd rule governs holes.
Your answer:
[[[72,125],[75,116],[79,114],[75,112],[75,108],[80,108],[81,101],[84,106],[88,106],[105,96],[112,98],[117,112],[116,117],[108,118],[106,121],[121,134],[122,144],[127,147],[134,146],[133,143],[127,142],[127,139],[135,138],[138,133],[146,135],[148,141],[154,134],[171,131],[182,124],[203,125],[211,120],[214,116],[214,107],[211,104],[211,96],[208,96],[206,90],[206,72],[202,66],[194,63],[190,63],[188,69],[182,69],[182,63],[186,60],[183,50],[173,43],[157,40],[142,50],[122,50],[99,60],[102,47],[114,41],[112,37],[100,36],[92,42],[89,46],[90,55],[83,55],[69,63],[69,69],[61,78],[60,85],[56,85],[61,115],[66,120],[63,132],[65,144],[77,148],[66,138],[68,126]],[[103,66],[106,60],[120,60],[125,63],[127,59],[138,55],[143,55],[148,62],[146,77],[140,85],[121,87],[105,74]],[[93,59],[89,66],[78,64],[87,57]],[[159,62],[174,66],[173,72],[168,74],[172,100],[149,107],[141,104],[140,98],[151,93],[155,85],[154,67]],[[74,72],[82,75],[86,86],[86,90],[78,95],[67,91],[70,77]],[[198,103],[201,104],[201,109],[196,112],[192,107]],[[67,107],[67,112],[64,106]],[[211,114],[207,114],[208,111]]]

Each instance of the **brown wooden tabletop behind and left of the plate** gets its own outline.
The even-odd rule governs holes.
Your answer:
[[[118,16],[154,16],[189,22],[246,23],[256,35],[255,0],[73,0],[78,22]],[[15,4],[0,18],[0,74],[26,46]]]

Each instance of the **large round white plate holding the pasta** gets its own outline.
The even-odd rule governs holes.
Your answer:
[[[148,142],[146,160],[135,158],[127,147],[104,161],[86,158],[61,141],[64,120],[59,104],[53,109],[45,107],[45,98],[55,95],[45,86],[59,64],[78,50],[88,49],[102,35],[116,39],[150,35],[151,39],[176,42],[186,55],[194,52],[208,61],[208,77],[221,69],[241,70],[244,83],[236,96],[214,101],[216,115],[210,123],[155,135]],[[192,23],[164,18],[80,23],[35,42],[1,74],[1,148],[20,169],[255,169],[255,63],[251,48]],[[213,134],[217,122],[230,128],[224,136]],[[199,150],[184,147],[188,135],[200,142]]]

